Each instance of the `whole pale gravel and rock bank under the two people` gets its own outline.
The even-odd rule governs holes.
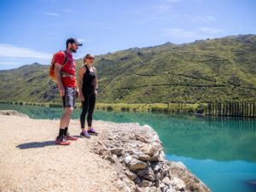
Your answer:
[[[99,136],[55,145],[59,120],[0,113],[0,191],[210,191],[182,163],[167,161],[153,129],[94,121]],[[168,190],[167,190],[168,189]]]

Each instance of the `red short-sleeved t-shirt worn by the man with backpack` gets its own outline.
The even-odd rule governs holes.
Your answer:
[[[67,51],[66,51],[67,52]],[[63,51],[58,52],[55,55],[55,63],[59,63],[61,65],[64,64],[65,61],[65,53]],[[61,77],[62,84],[64,87],[76,87],[77,79],[76,79],[76,63],[73,60],[73,55],[67,52],[67,63],[64,67],[61,68],[61,72],[66,72],[73,77]]]

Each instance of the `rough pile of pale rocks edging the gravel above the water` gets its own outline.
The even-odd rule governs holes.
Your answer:
[[[112,123],[105,124],[91,152],[115,167],[120,191],[211,191],[182,162],[165,159],[163,145],[150,126],[117,124],[108,129]]]

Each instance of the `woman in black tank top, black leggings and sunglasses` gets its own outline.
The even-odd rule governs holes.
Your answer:
[[[79,71],[79,99],[82,101],[82,113],[80,115],[81,133],[80,136],[90,137],[90,134],[97,135],[91,126],[92,113],[95,108],[98,84],[96,79],[96,68],[93,67],[94,56],[84,56],[84,65]],[[85,129],[85,116],[87,114],[88,130]]]

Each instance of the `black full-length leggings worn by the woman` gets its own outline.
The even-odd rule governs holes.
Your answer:
[[[81,128],[84,129],[85,126],[85,116],[87,114],[87,124],[88,126],[91,126],[92,122],[92,113],[95,108],[95,102],[96,102],[96,95],[95,94],[85,94],[84,95],[84,102],[82,102],[82,113],[80,115],[80,124]]]

